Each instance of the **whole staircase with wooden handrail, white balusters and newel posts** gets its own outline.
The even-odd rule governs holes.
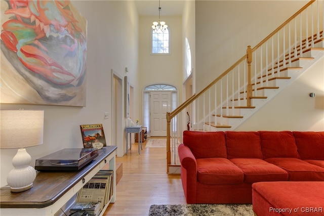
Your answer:
[[[168,173],[179,173],[177,146],[188,111],[192,130],[233,131],[324,58],[323,14],[324,2],[310,1],[256,47],[249,46],[245,56],[206,88],[167,113]]]

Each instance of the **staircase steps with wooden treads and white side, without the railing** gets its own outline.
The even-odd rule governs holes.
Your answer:
[[[205,131],[228,131],[234,130],[242,122],[253,115],[257,110],[263,107],[267,102],[274,98],[280,91],[284,90],[288,85],[294,82],[300,75],[302,75],[308,68],[310,68],[314,63],[316,63],[320,58],[324,56],[324,38],[323,32],[320,32],[320,37],[314,36],[314,45],[309,44],[306,48],[305,42],[303,42],[303,47],[297,47],[298,56],[297,58],[292,58],[290,65],[284,66],[283,60],[279,63],[279,67],[275,66],[267,70],[267,80],[265,77],[267,75],[258,76],[256,83],[252,83],[253,96],[251,97],[250,106],[241,106],[239,100],[244,99],[246,91],[240,91],[238,97],[231,99],[230,102],[232,106],[222,106],[220,111],[217,110],[218,114],[212,114],[213,117],[217,117],[217,122],[204,122],[206,126]],[[302,51],[302,56],[300,57],[300,51]],[[286,55],[286,61],[289,61]],[[277,71],[279,68],[279,72]],[[273,74],[272,74],[273,73]],[[278,74],[279,73],[279,74]],[[221,114],[230,113],[230,114]]]

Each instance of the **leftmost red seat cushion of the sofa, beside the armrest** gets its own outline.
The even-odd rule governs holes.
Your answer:
[[[232,185],[243,183],[244,174],[226,158],[197,159],[197,178],[201,184]]]

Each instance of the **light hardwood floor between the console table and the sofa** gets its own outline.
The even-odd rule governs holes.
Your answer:
[[[103,215],[148,215],[152,204],[186,204],[180,175],[167,174],[166,148],[132,144],[123,162],[123,177],[116,186],[116,202]]]

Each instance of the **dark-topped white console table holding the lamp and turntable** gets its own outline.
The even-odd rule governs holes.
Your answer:
[[[37,172],[33,187],[27,191],[12,193],[10,187],[0,189],[0,214],[5,215],[54,215],[67,203],[106,163],[113,170],[113,194],[116,200],[116,146],[99,150],[99,155],[78,171]],[[101,211],[102,215],[106,208]]]

